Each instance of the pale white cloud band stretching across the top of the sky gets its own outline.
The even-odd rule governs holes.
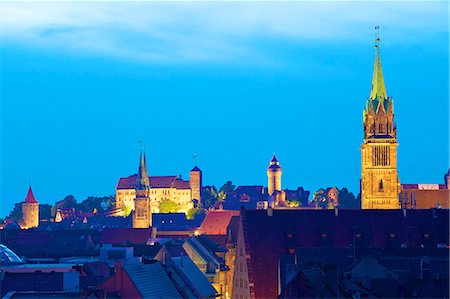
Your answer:
[[[446,2],[3,2],[1,37],[34,47],[178,63],[269,62],[258,40],[367,39],[446,31]],[[411,34],[414,32],[414,37]]]

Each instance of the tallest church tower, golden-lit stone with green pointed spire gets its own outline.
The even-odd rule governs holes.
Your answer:
[[[377,33],[372,90],[363,112],[361,206],[363,209],[398,209],[400,182],[394,101],[386,93],[379,43]]]

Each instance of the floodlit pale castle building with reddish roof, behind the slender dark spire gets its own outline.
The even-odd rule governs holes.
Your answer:
[[[183,180],[180,176],[149,176],[150,205],[152,212],[159,213],[160,203],[170,200],[177,205],[177,211],[186,213],[194,207],[194,200],[201,204],[202,171],[195,166],[190,171],[190,180]],[[116,187],[117,215],[127,215],[135,210],[136,182],[138,175],[120,178]]]

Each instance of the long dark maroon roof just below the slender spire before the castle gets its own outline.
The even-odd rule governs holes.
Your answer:
[[[145,244],[151,235],[151,228],[105,228],[101,232],[100,243]]]

